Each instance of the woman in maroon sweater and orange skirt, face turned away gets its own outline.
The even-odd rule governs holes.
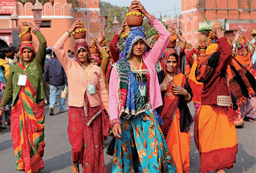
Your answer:
[[[225,172],[236,163],[238,140],[226,81],[232,51],[219,21],[214,24],[212,39],[214,42],[206,49],[208,56],[201,57],[196,71],[196,79],[204,87],[201,106],[194,117],[194,138],[200,152],[200,172]],[[209,156],[211,162],[207,161]]]

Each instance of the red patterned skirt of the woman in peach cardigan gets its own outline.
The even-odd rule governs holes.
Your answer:
[[[68,136],[72,145],[72,162],[81,164],[83,172],[106,172],[102,134],[105,130],[102,127],[102,114],[96,115],[101,108],[90,107],[87,97],[85,101],[87,115],[84,107],[69,106]]]

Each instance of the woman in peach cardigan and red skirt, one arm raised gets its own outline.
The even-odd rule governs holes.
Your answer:
[[[76,28],[77,20],[54,45],[54,51],[64,68],[69,85],[68,135],[72,145],[72,172],[106,172],[103,158],[102,114],[100,102],[109,113],[108,92],[98,66],[90,63],[90,51],[84,38],[76,39],[73,61],[63,46]]]

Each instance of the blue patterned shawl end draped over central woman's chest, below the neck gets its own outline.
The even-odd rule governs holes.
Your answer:
[[[150,109],[150,104],[145,103],[144,97],[138,90],[138,84],[128,60],[119,59],[113,67],[118,77],[118,117],[130,119]]]

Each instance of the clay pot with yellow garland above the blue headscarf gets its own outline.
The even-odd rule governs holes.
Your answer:
[[[143,14],[139,10],[130,10],[126,13],[128,27],[140,27],[143,24]]]

